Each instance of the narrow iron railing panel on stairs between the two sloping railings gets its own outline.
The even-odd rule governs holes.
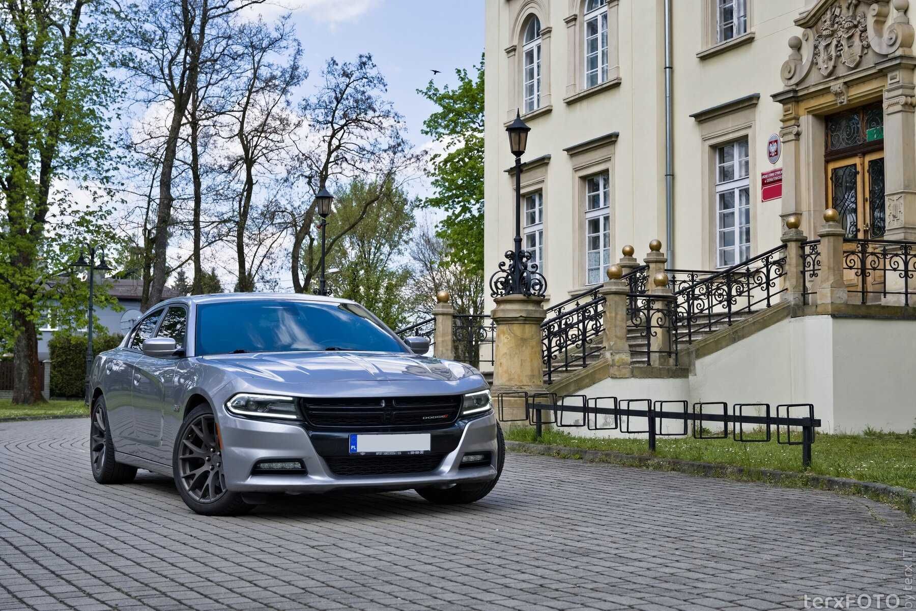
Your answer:
[[[674,295],[627,295],[630,359],[652,364],[652,355],[667,357],[666,365],[678,364],[677,325]],[[632,341],[634,340],[635,341]]]

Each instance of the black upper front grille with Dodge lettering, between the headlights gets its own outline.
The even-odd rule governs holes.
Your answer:
[[[307,398],[302,399],[301,407],[313,429],[417,429],[453,423],[461,409],[461,396]]]

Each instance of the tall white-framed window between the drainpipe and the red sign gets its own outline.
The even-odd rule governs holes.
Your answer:
[[[738,154],[738,145],[744,143],[743,153],[745,156]],[[721,162],[720,153],[731,147],[733,150],[731,161]],[[745,136],[738,137],[728,142],[714,145],[714,215],[715,215],[715,234],[714,234],[714,252],[716,269],[724,269],[744,263],[751,257],[752,245],[752,217],[751,217],[751,194],[750,194],[750,140]],[[742,163],[743,162],[743,163]],[[726,166],[731,166],[732,176],[724,179],[722,170]],[[742,169],[744,174],[742,175]],[[747,197],[744,203],[741,200],[741,193],[745,192]],[[732,208],[723,207],[723,196],[732,194]],[[733,221],[730,227],[724,227],[724,216],[729,211],[732,213]],[[742,220],[742,212],[747,213],[747,222]],[[747,228],[747,241],[741,240],[742,230]],[[733,243],[731,246],[725,246],[723,236],[731,232],[733,234]],[[733,261],[727,263],[725,253],[731,252]]]

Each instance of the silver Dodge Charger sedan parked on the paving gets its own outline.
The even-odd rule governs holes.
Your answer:
[[[344,299],[169,299],[93,362],[93,476],[174,477],[205,515],[342,488],[474,502],[505,456],[490,392],[427,351]]]

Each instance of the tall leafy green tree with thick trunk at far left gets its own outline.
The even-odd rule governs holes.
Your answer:
[[[67,179],[106,182],[116,101],[100,42],[110,38],[108,11],[103,0],[0,5],[0,311],[10,314],[15,403],[43,401],[38,318],[82,297],[82,284],[56,276],[76,244],[111,239],[105,213],[62,190]]]

